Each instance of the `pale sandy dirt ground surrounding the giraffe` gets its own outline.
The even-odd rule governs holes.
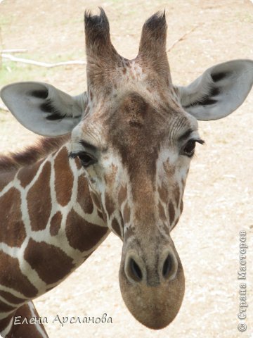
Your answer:
[[[112,42],[120,54],[134,58],[141,27],[155,11],[166,9],[167,46],[196,26],[169,51],[176,84],[188,84],[206,68],[233,58],[253,58],[251,1],[0,1],[0,49],[27,49],[16,56],[37,61],[85,60],[83,15],[103,6],[110,19]],[[50,82],[71,94],[86,88],[84,65],[52,69],[2,59],[0,87],[20,80]],[[35,301],[48,318],[50,337],[253,337],[253,92],[238,111],[215,122],[200,123],[206,146],[197,146],[184,211],[172,238],[186,274],[186,295],[179,315],[155,332],[136,322],[119,291],[122,243],[113,234],[84,265],[59,287]],[[0,111],[0,151],[31,144],[34,134],[10,113]],[[247,331],[238,332],[239,231],[247,230]],[[53,259],[53,257],[52,257]],[[51,323],[62,316],[101,316],[112,324]]]

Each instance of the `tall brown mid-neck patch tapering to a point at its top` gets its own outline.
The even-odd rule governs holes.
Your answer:
[[[38,180],[27,193],[27,206],[32,230],[44,230],[51,213],[51,163],[46,162]]]

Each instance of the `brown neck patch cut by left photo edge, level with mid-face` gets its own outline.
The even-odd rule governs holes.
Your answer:
[[[11,188],[0,199],[0,242],[9,246],[20,247],[26,237],[20,206],[21,196],[18,189]]]

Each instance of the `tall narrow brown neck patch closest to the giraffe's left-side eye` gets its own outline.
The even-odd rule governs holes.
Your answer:
[[[69,161],[67,148],[64,147],[57,154],[54,163],[56,199],[61,206],[66,206],[72,195],[74,177]]]

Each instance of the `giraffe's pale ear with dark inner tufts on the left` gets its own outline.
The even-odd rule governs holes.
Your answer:
[[[86,92],[70,96],[42,82],[8,84],[1,89],[0,96],[22,125],[51,137],[71,132],[86,106]]]

